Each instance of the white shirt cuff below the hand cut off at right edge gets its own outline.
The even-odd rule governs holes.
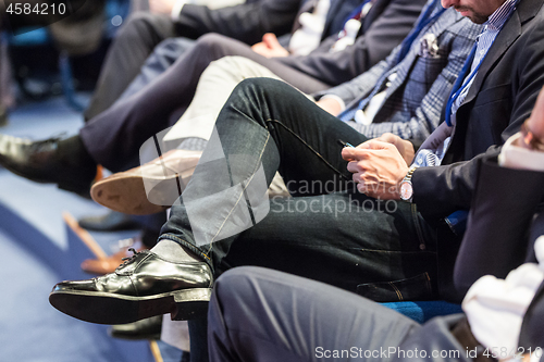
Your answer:
[[[521,134],[517,133],[506,140],[498,155],[498,164],[503,167],[544,171],[544,152],[517,146],[519,138]]]

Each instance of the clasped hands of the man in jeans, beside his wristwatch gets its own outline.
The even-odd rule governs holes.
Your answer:
[[[371,139],[357,148],[345,147],[342,158],[349,161],[347,170],[359,192],[382,200],[400,199],[399,184],[409,168],[394,145]]]

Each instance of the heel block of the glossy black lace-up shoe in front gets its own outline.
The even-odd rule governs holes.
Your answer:
[[[174,295],[175,309],[170,312],[172,321],[205,317],[211,298],[211,288],[181,290]]]

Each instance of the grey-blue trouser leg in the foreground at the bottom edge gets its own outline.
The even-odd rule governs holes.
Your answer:
[[[449,333],[462,314],[419,325],[355,294],[261,267],[215,283],[210,361],[471,361]]]

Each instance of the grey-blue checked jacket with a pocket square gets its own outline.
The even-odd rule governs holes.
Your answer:
[[[434,4],[435,1],[429,1],[429,5]],[[348,110],[357,109],[362,99],[383,90],[390,82],[388,76],[396,73],[374,122],[369,126],[355,123],[353,126],[368,137],[391,132],[403,138],[423,140],[440,124],[444,101],[480,33],[480,25],[448,9],[420,33],[399,64],[400,47],[397,47],[370,71],[318,96],[336,95]],[[424,51],[429,46],[436,46],[437,50]]]

